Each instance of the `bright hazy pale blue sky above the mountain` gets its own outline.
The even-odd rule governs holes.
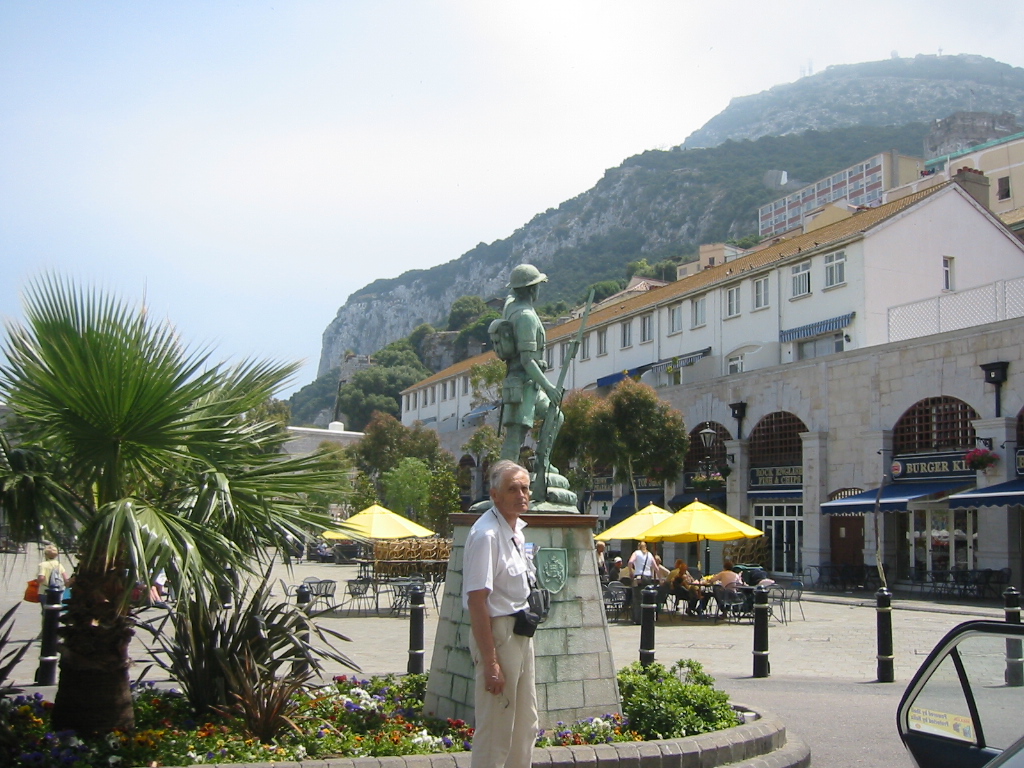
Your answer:
[[[301,360],[736,96],[933,53],[1024,66],[993,0],[0,0],[0,318],[57,273],[225,360]]]

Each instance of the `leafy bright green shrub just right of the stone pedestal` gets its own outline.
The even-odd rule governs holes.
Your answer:
[[[697,662],[676,662],[672,669],[634,662],[618,673],[623,715],[647,739],[679,738],[730,728],[739,723],[729,696]]]

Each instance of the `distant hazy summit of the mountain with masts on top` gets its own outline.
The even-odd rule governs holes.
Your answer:
[[[919,55],[829,67],[795,83],[732,99],[691,133],[686,148],[808,129],[927,123],[954,112],[1024,118],[1024,70],[984,56]]]

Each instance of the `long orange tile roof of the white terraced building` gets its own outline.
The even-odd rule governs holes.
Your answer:
[[[780,240],[767,248],[762,248],[759,251],[754,251],[743,256],[738,256],[730,261],[726,261],[723,264],[702,269],[699,272],[683,278],[675,283],[670,283],[667,286],[653,288],[650,291],[642,293],[638,296],[624,299],[622,302],[618,302],[613,306],[595,309],[590,314],[588,328],[594,329],[598,326],[614,323],[623,317],[635,316],[641,313],[644,309],[654,309],[655,307],[669,303],[675,299],[682,299],[689,294],[706,291],[718,284],[738,279],[745,272],[768,266],[794,256],[799,255],[804,258],[810,257],[815,253],[827,250],[837,243],[842,243],[850,240],[851,238],[864,234],[864,232],[868,229],[888,221],[926,198],[930,198],[933,195],[936,195],[939,190],[945,189],[951,185],[954,185],[954,182],[947,181],[945,183],[929,187],[928,189],[907,195],[906,197],[900,198],[892,203],[886,203],[878,206],[877,208],[867,208],[858,211],[849,218],[845,218],[833,224],[827,224],[822,226],[820,229],[814,229],[813,231],[798,234],[794,238],[790,238],[788,240]],[[548,329],[548,343],[567,341],[579,332],[581,322],[581,318],[577,318],[569,321],[568,323],[563,323],[555,328]],[[469,371],[469,369],[473,366],[479,362],[486,362],[488,359],[494,357],[494,352],[484,352],[483,354],[475,357],[470,357],[469,359],[457,362],[454,366],[451,366],[443,371],[439,371],[433,376],[414,384],[412,387],[402,390],[402,394],[406,392],[412,392],[415,389],[421,389],[424,386],[429,386],[430,384],[449,379],[453,376],[458,376]]]

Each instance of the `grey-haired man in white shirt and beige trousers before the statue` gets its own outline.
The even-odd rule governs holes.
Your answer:
[[[490,500],[494,506],[470,528],[463,557],[462,602],[476,667],[472,768],[526,768],[538,727],[534,640],[513,632],[534,572],[520,519],[529,507],[526,470],[497,462]]]

